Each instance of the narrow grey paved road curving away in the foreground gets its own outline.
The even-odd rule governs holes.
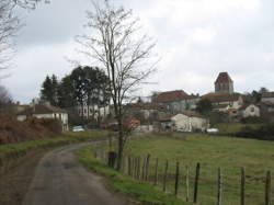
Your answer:
[[[77,161],[72,150],[81,146],[60,148],[42,158],[23,205],[130,204],[106,190],[101,176],[88,172]]]

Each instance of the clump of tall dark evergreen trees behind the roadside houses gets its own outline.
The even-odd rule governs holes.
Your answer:
[[[62,109],[81,106],[83,112],[87,105],[88,112],[89,106],[95,111],[95,105],[110,104],[109,78],[102,69],[89,66],[79,66],[60,80],[55,75],[47,76],[42,83],[41,100]]]

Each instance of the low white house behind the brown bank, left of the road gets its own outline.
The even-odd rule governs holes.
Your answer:
[[[49,104],[32,104],[28,109],[19,113],[16,118],[18,121],[25,121],[30,116],[59,119],[62,130],[68,130],[68,113],[59,107]]]

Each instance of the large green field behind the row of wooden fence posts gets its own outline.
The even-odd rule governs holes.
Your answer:
[[[107,150],[109,146],[104,145],[104,148]],[[247,173],[246,204],[263,204],[265,173],[274,168],[274,143],[253,139],[173,134],[168,136],[150,135],[128,140],[125,156],[144,157],[147,153],[151,155],[151,180],[153,180],[156,158],[160,160],[160,182],[162,181],[164,162],[169,160],[171,167],[168,184],[171,193],[174,190],[175,162],[180,162],[180,197],[182,198],[185,198],[185,166],[191,168],[190,197],[192,198],[195,167],[199,162],[199,204],[216,203],[218,168],[221,168],[224,176],[222,204],[239,204],[240,169],[242,167],[246,168]]]

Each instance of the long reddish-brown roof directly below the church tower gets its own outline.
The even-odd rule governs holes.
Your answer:
[[[231,102],[231,101],[238,101],[241,96],[240,93],[225,93],[225,92],[210,92],[207,94],[204,94],[202,99],[208,99],[213,103],[217,102]]]

